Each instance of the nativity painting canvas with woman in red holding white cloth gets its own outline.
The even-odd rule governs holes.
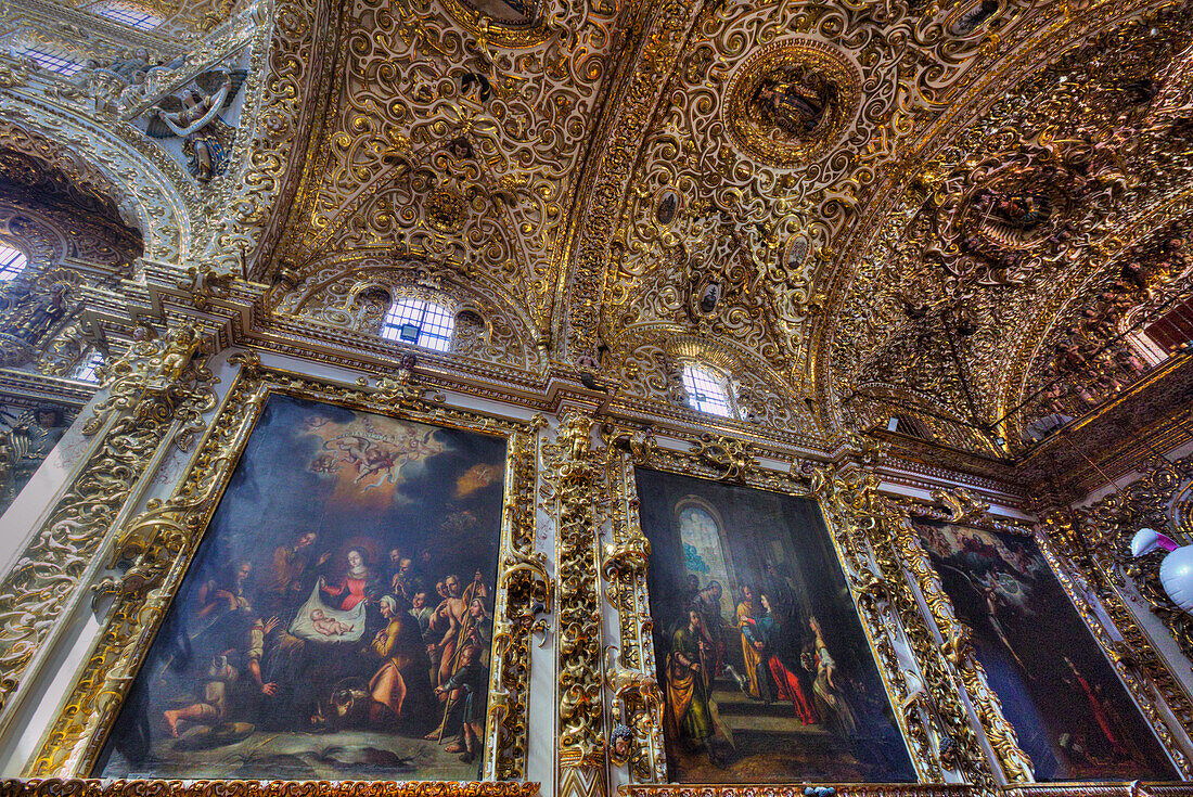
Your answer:
[[[97,774],[477,779],[505,453],[272,396]]]

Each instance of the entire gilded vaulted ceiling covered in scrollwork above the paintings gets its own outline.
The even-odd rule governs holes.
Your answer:
[[[1124,329],[1185,297],[1193,4],[276,13],[282,313],[398,274],[500,315],[512,365],[667,400],[703,357],[775,430],[902,414],[1009,457],[1145,370]]]

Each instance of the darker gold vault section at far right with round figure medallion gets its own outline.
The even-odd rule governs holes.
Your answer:
[[[849,245],[855,265],[839,272],[849,282],[821,329],[821,345],[833,341],[821,387],[888,396],[878,416],[960,421],[981,440],[954,433],[954,445],[1002,455],[1021,449],[1040,413],[1090,406],[1044,395],[1064,330],[1105,303],[1148,235],[1186,214],[1193,166],[1176,143],[1191,134],[1174,75],[1189,12],[1129,11],[1093,5],[1040,30],[1034,47],[1056,55],[1002,64],[989,81],[1034,72],[905,165],[902,197],[872,206]],[[1073,42],[1077,25],[1100,32]],[[872,235],[867,254],[861,235]],[[1132,366],[1111,365],[1098,379],[1113,393]]]

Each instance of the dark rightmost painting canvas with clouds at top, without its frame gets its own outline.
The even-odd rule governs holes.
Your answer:
[[[1034,539],[916,529],[1037,780],[1176,777]]]

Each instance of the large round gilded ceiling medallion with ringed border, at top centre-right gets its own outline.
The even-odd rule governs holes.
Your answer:
[[[829,153],[858,112],[861,75],[835,48],[806,39],[760,49],[734,76],[725,122],[755,160],[793,167]]]

